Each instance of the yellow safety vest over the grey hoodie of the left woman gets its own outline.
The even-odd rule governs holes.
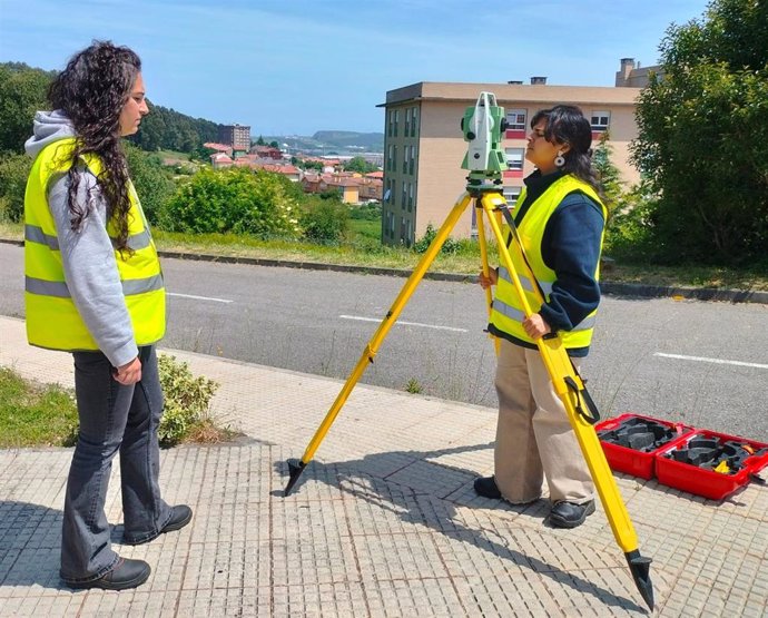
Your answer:
[[[66,174],[70,166],[75,138],[46,146],[35,159],[24,195],[24,301],[27,339],[30,344],[50,350],[98,350],[72,302],[65,279],[56,222],[48,207],[47,190],[52,177]],[[95,175],[101,171],[95,155],[81,157]],[[115,252],[126,306],[137,345],[149,345],[166,330],[166,296],[160,261],[149,234],[136,189],[129,184],[128,246]],[[116,238],[112,222],[107,233]]]

